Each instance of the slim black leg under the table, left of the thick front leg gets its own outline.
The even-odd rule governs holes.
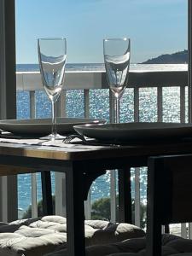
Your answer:
[[[51,193],[50,172],[41,172],[42,195],[43,195],[43,212],[44,215],[53,214],[53,201]]]

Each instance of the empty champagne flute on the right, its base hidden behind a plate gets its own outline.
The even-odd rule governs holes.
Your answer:
[[[119,99],[128,82],[130,47],[130,38],[103,40],[103,55],[108,84],[115,98],[115,123],[119,123]]]

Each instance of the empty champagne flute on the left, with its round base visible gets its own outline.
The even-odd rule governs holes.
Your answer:
[[[67,59],[66,38],[38,38],[40,73],[52,107],[51,134],[44,139],[61,139],[56,131],[56,101],[61,95]]]

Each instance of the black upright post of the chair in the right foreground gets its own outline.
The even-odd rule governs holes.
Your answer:
[[[160,256],[161,255],[161,220],[162,212],[168,212],[169,206],[162,204],[162,201],[166,201],[166,192],[159,189],[160,186],[166,191],[166,183],[164,183],[164,177],[161,173],[164,167],[162,162],[154,161],[148,162],[148,190],[147,190],[147,235],[146,235],[146,255],[148,256]],[[158,184],[158,185],[157,185]],[[168,183],[169,186],[169,183]],[[168,198],[168,195],[167,195]],[[166,207],[166,211],[163,209]]]

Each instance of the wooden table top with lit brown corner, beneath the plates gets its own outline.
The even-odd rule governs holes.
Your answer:
[[[153,142],[126,146],[93,148],[81,145],[76,148],[48,147],[16,143],[0,143],[0,154],[25,156],[54,160],[88,160],[114,157],[151,156],[159,154],[188,154],[192,153],[192,140],[177,142]]]

